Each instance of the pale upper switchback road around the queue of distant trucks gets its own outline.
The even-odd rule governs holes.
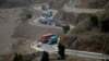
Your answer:
[[[43,10],[41,10],[40,7],[34,8],[34,10],[39,11],[40,14],[41,14],[41,12],[43,12]],[[52,11],[52,16],[51,16],[51,19],[53,19],[53,16],[57,14],[58,11],[57,11],[57,10],[51,10],[51,11]],[[40,16],[39,16],[39,17],[40,17]],[[31,25],[36,25],[36,26],[40,26],[40,27],[50,27],[50,28],[62,29],[62,27],[55,26],[55,24],[52,24],[52,25],[40,24],[40,23],[39,23],[39,17],[37,17],[37,19],[35,19],[35,20],[31,20],[31,21],[28,22],[28,24],[31,24]],[[74,26],[73,26],[73,25],[70,25],[70,28],[74,28]]]

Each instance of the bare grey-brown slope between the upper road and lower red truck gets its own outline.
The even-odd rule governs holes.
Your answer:
[[[29,24],[20,24],[14,32],[13,37],[39,40],[44,34],[52,33],[55,35],[61,35],[62,30],[57,28],[40,27]]]

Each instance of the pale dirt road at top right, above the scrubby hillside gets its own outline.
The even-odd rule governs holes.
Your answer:
[[[75,5],[80,4],[80,0],[75,1],[76,3],[70,1],[69,3],[64,4],[63,10],[65,12],[74,12],[74,13],[97,13],[105,11],[105,9],[81,9],[81,8],[75,8]]]

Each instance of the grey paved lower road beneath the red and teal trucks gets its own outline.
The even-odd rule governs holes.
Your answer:
[[[51,53],[57,53],[58,48],[57,45],[48,45],[44,44],[41,47],[37,47],[37,42],[31,45],[31,47],[37,51],[48,51]],[[77,56],[77,57],[86,57],[86,58],[94,58],[94,59],[109,59],[109,56],[96,52],[87,52],[87,51],[78,51],[78,50],[70,50],[65,49],[65,54],[70,56]]]

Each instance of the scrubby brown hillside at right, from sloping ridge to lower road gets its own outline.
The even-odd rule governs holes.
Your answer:
[[[108,27],[109,10],[106,12],[92,14],[87,19],[78,22],[75,28],[71,29],[66,36],[62,38],[62,42],[70,49],[102,52],[109,54]]]

